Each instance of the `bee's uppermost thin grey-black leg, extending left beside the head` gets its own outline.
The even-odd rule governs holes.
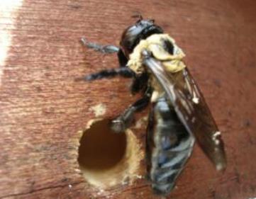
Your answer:
[[[89,47],[91,49],[94,49],[95,51],[102,52],[102,53],[114,53],[119,51],[119,47],[115,45],[99,45],[94,42],[89,42],[86,38],[81,39],[82,44],[85,47]]]

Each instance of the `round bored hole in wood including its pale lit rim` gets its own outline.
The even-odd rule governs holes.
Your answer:
[[[130,130],[115,133],[110,120],[96,120],[84,130],[78,162],[84,178],[93,186],[109,188],[137,175],[140,144]]]

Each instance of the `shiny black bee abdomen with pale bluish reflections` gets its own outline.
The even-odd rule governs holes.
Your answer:
[[[194,137],[165,98],[159,98],[152,107],[146,142],[148,177],[156,193],[167,195],[190,157]]]

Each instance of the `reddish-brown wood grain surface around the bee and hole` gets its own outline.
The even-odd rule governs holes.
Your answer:
[[[256,1],[4,4],[1,1],[0,199],[157,198],[145,179],[99,193],[84,180],[77,163],[77,132],[95,118],[91,106],[103,103],[104,118],[112,118],[136,98],[128,93],[127,79],[74,81],[118,64],[114,55],[84,50],[79,38],[118,45],[123,29],[135,21],[130,18],[135,11],[155,18],[186,52],[226,143],[224,174],[214,171],[196,146],[168,198],[256,197]],[[142,144],[144,129],[134,130]]]

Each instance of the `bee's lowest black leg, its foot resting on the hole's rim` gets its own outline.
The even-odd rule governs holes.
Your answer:
[[[124,132],[133,123],[135,113],[140,112],[148,106],[150,96],[151,89],[148,89],[143,98],[135,101],[121,115],[111,121],[111,129],[114,132]]]

